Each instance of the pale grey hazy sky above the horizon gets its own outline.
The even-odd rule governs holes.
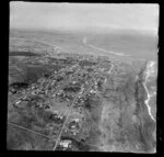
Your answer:
[[[10,2],[10,27],[157,33],[159,4]]]

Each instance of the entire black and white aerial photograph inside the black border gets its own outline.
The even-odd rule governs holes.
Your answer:
[[[8,150],[156,153],[157,3],[9,12]]]

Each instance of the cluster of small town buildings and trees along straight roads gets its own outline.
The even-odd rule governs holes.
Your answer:
[[[105,66],[87,59],[74,61],[71,66],[63,66],[65,68],[55,70],[50,76],[43,77],[23,89],[23,96],[13,104],[16,108],[30,104],[44,109],[45,112],[51,112],[47,124],[51,130],[51,135],[57,137],[66,123],[61,136],[71,137],[78,142],[83,131],[82,124],[85,121],[86,97],[101,93],[105,78],[98,71],[109,68],[109,66]],[[58,133],[55,131],[55,126],[59,126]],[[58,147],[66,150],[71,149],[71,145],[72,141],[66,138],[60,139]]]

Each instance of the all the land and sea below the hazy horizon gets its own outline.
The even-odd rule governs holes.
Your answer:
[[[8,149],[154,153],[151,37],[11,30]]]

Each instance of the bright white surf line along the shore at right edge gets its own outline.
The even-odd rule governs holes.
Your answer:
[[[151,112],[151,106],[149,105],[150,99],[151,99],[151,97],[154,96],[154,93],[153,93],[153,94],[150,94],[150,93],[149,93],[149,90],[148,90],[148,88],[147,88],[147,82],[149,81],[149,77],[154,72],[154,69],[153,69],[154,64],[155,64],[155,61],[150,61],[150,63],[148,63],[148,67],[147,67],[147,68],[148,68],[148,69],[147,69],[148,71],[147,71],[147,74],[145,74],[145,81],[143,82],[143,86],[144,86],[144,89],[145,89],[147,94],[148,94],[148,99],[144,101],[144,103],[145,103],[147,106],[148,106],[149,115],[150,115],[151,119],[155,122],[155,119],[153,117],[152,112]]]

